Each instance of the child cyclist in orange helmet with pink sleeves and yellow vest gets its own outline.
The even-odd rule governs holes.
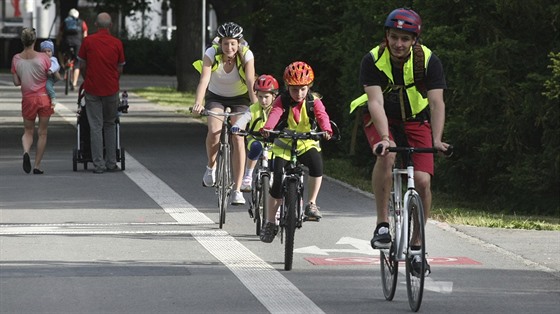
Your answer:
[[[296,61],[289,64],[284,70],[284,83],[287,92],[276,98],[272,104],[272,110],[268,116],[268,120],[263,127],[263,133],[267,136],[266,130],[272,130],[277,127],[284,115],[284,105],[282,99],[289,101],[286,128],[298,132],[309,132],[312,129],[313,121],[307,114],[307,94],[311,93],[311,86],[315,73],[313,69],[305,62]],[[321,130],[326,131],[325,138],[328,140],[333,134],[330,124],[330,118],[325,110],[325,105],[320,98],[313,99],[313,112],[315,120]],[[270,198],[268,203],[268,213],[266,214],[266,223],[261,229],[260,239],[263,242],[270,243],[276,236],[277,227],[275,223],[276,211],[282,202],[282,173],[284,166],[290,160],[290,151],[285,147],[291,146],[289,139],[276,139],[272,148],[274,155],[274,179],[270,188]],[[323,178],[323,159],[321,157],[321,146],[319,141],[303,140],[298,142],[298,160],[309,168],[309,203],[305,206],[305,215],[310,220],[317,220],[322,217],[319,207],[316,204],[321,182]]]

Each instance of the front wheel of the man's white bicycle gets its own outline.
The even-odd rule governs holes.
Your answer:
[[[408,200],[408,250],[406,258],[406,290],[410,309],[417,312],[422,304],[424,279],[426,276],[426,238],[424,234],[424,208],[417,194],[411,194]],[[420,246],[412,251],[411,246]],[[414,269],[412,260],[417,259],[419,266]]]

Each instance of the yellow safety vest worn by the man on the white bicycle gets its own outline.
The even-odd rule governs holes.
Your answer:
[[[430,60],[432,51],[424,45],[422,45],[421,47],[422,50],[424,51],[424,56],[425,56],[424,69],[426,69],[428,67],[428,62]],[[410,104],[412,117],[415,117],[416,114],[420,113],[428,106],[428,99],[422,97],[422,94],[420,94],[420,92],[416,89],[416,86],[414,85],[414,69],[413,69],[414,53],[412,53],[412,47],[410,49],[411,49],[410,58],[405,62],[403,66],[404,86],[402,86],[401,88],[406,89],[406,95],[408,96],[408,103]],[[390,91],[391,88],[395,88],[394,85],[395,80],[393,79],[393,71],[391,66],[391,53],[389,52],[389,49],[385,49],[381,57],[379,59],[376,59],[378,52],[379,52],[379,46],[373,48],[370,51],[371,55],[373,56],[373,59],[375,60],[375,66],[380,71],[382,71],[389,80],[389,84],[387,88],[383,91],[385,93],[387,91]],[[367,105],[367,100],[368,100],[367,94],[363,94],[360,97],[354,99],[350,103],[350,113],[352,113],[356,108],[360,106]],[[401,106],[404,106],[404,104],[401,104]],[[401,108],[401,111],[404,112],[404,108]]]

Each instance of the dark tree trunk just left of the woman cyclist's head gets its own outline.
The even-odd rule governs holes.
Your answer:
[[[174,1],[177,25],[177,91],[194,92],[200,78],[192,63],[200,59],[202,51],[202,1]]]

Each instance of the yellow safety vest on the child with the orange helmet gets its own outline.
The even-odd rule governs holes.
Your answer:
[[[288,130],[295,130],[296,132],[310,132],[311,131],[311,122],[309,116],[307,115],[307,100],[304,100],[303,105],[301,106],[300,110],[300,117],[299,123],[296,123],[294,119],[294,113],[292,112],[292,108],[288,110],[288,126],[286,127]],[[298,156],[301,156],[303,153],[307,152],[311,148],[315,147],[317,151],[321,151],[321,145],[319,141],[315,140],[299,140],[297,145]],[[292,140],[285,139],[285,138],[277,138],[274,140],[274,146],[272,147],[272,153],[274,157],[280,157],[284,160],[290,160],[291,151],[292,149]]]

